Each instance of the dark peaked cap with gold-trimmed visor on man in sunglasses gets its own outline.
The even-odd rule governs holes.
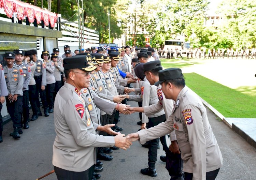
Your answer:
[[[85,55],[72,56],[69,58],[65,58],[63,60],[63,67],[65,70],[80,69],[88,72],[95,70],[97,67],[94,65],[90,65],[90,62],[87,59],[88,58],[86,58]]]

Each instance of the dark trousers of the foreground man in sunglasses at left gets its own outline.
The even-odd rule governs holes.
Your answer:
[[[58,180],[91,180],[94,172],[94,165],[81,172],[69,171],[54,166],[54,171]]]

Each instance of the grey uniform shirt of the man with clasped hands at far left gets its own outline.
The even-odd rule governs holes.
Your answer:
[[[23,71],[22,68],[18,65],[13,65],[12,69],[4,66],[4,78],[6,82],[6,87],[8,94],[18,94],[23,95]]]

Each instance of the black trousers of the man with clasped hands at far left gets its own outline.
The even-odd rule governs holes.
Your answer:
[[[9,115],[12,119],[12,126],[13,128],[21,127],[20,119],[22,118],[22,96],[17,97],[17,101],[10,101],[8,96],[5,97],[6,99],[6,107]]]

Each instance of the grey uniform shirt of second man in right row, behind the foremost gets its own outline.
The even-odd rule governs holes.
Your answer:
[[[163,94],[162,90],[161,90],[162,86],[158,85],[157,89],[156,89],[156,93],[158,96],[158,102],[156,104],[152,104],[150,106],[145,106],[144,108],[144,113],[146,116],[150,116],[152,114],[155,114],[157,112],[159,112],[160,110],[164,110],[165,111],[165,117],[166,120],[168,119],[168,117],[172,114],[172,109],[173,109],[173,100],[170,99],[166,99],[165,95]],[[175,135],[175,131],[170,133],[170,139],[171,141],[177,140],[176,139],[176,135]]]

